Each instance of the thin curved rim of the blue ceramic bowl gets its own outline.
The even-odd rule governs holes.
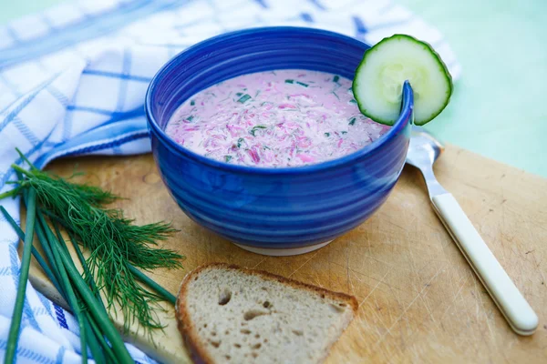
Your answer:
[[[351,164],[356,159],[372,154],[375,150],[382,147],[391,139],[393,139],[393,137],[399,134],[405,128],[405,126],[407,126],[407,123],[406,123],[407,119],[408,119],[408,124],[412,123],[412,110],[414,108],[414,97],[413,97],[412,88],[410,87],[410,84],[408,83],[408,81],[405,81],[405,84],[403,86],[401,111],[399,113],[397,121],[395,122],[393,126],[391,126],[391,128],[389,129],[389,131],[387,131],[386,134],[384,134],[383,136],[380,136],[379,138],[377,138],[377,140],[373,141],[366,147],[356,150],[355,152],[351,154],[348,154],[343,157],[327,160],[325,162],[316,163],[313,165],[296,166],[296,167],[251,167],[251,166],[243,166],[243,165],[232,165],[229,163],[224,163],[219,160],[201,156],[200,154],[192,152],[188,148],[182,147],[180,144],[175,142],[174,139],[168,136],[161,129],[160,125],[156,121],[156,118],[151,114],[151,111],[150,111],[152,93],[154,92],[155,87],[161,82],[161,77],[165,73],[167,73],[172,67],[177,66],[181,62],[181,58],[184,58],[186,56],[191,56],[192,54],[199,52],[201,47],[203,46],[207,46],[207,45],[211,45],[211,44],[215,44],[219,42],[224,42],[224,41],[232,39],[233,37],[254,35],[256,33],[276,33],[276,32],[287,32],[287,31],[303,32],[310,35],[315,34],[315,35],[333,36],[348,43],[354,43],[358,45],[367,45],[365,42],[361,42],[357,40],[356,38],[352,38],[347,35],[342,35],[340,33],[335,33],[328,30],[310,28],[310,27],[304,27],[304,26],[253,27],[253,28],[247,28],[243,30],[236,30],[236,31],[224,33],[222,35],[215,35],[205,40],[202,40],[201,42],[195,45],[191,45],[190,47],[181,51],[176,56],[173,56],[170,59],[170,61],[168,61],[165,65],[161,66],[160,70],[156,73],[156,75],[150,81],[150,85],[148,86],[148,89],[146,92],[144,109],[145,109],[145,114],[147,117],[148,124],[150,128],[152,129],[152,132],[156,133],[157,136],[159,136],[159,139],[162,143],[164,144],[167,143],[168,147],[170,147],[171,149],[174,149],[176,152],[181,153],[185,155],[186,157],[190,157],[193,160],[209,165],[211,167],[223,169],[230,172],[239,172],[239,173],[247,173],[247,174],[286,175],[286,174],[304,174],[304,173],[310,173],[310,172],[317,172],[317,171],[322,171],[325,169],[330,169],[333,167],[340,167],[341,165],[345,165],[345,164]],[[368,46],[370,47],[370,45]]]

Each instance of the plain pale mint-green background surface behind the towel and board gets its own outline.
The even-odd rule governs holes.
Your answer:
[[[0,24],[63,0],[0,0]],[[547,177],[547,0],[394,0],[435,25],[463,73],[428,129]]]

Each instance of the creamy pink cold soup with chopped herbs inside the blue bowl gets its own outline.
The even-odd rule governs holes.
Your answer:
[[[204,157],[253,167],[298,167],[343,157],[389,126],[363,116],[342,76],[280,70],[237,76],[191,97],[166,133]]]

